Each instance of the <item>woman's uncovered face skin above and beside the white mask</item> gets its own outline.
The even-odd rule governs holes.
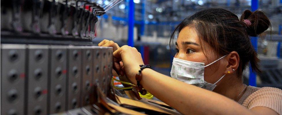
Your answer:
[[[190,28],[189,26],[184,27],[180,31],[175,43],[177,53],[174,57],[191,62],[205,63],[205,66],[217,60],[219,57],[218,53],[215,52],[205,41],[202,40],[201,42],[202,43],[200,44],[198,35],[194,28]],[[206,54],[207,57],[205,57],[204,54]],[[218,79],[224,75],[227,64],[227,60],[222,58],[214,64],[205,67],[204,80],[208,83],[215,83],[218,81]]]

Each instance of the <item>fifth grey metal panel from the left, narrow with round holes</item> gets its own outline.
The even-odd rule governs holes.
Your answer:
[[[91,86],[92,86],[92,47],[85,46],[82,47],[82,63],[81,63],[81,106],[90,104],[91,96]]]

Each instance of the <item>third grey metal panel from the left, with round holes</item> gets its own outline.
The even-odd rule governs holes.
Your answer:
[[[66,50],[67,46],[50,46],[49,63],[49,113],[53,114],[65,110],[66,104]]]

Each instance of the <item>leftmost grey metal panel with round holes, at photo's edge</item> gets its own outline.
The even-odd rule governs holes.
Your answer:
[[[23,115],[26,45],[1,44],[1,115]]]

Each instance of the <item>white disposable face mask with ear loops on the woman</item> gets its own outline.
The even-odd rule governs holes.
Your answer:
[[[223,57],[220,57],[218,60],[222,59]],[[220,81],[225,75],[223,75],[214,84],[207,83],[206,81],[204,81],[204,69],[205,67],[217,62],[218,60],[205,66],[205,63],[190,62],[178,58],[173,58],[170,76],[179,81],[212,91],[216,87],[216,83],[218,83],[218,81]]]

